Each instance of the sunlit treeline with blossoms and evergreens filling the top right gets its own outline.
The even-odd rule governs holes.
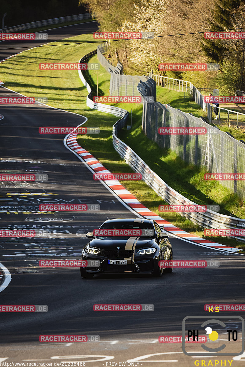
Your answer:
[[[80,0],[101,31],[154,32],[151,40],[111,41],[108,57],[130,74],[149,72],[190,80],[220,94],[245,90],[245,40],[205,40],[203,32],[245,33],[244,0]],[[159,63],[219,63],[220,71],[170,72]]]

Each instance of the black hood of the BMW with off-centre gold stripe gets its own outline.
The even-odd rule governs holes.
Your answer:
[[[148,248],[151,247],[153,244],[156,244],[155,239],[148,239],[148,238],[139,238],[138,237],[127,237],[125,239],[118,239],[115,237],[113,239],[98,239],[94,238],[89,242],[89,246],[98,247],[102,249],[110,249],[116,250],[117,247],[120,247],[120,250],[125,250],[125,246],[127,244],[127,250],[129,250],[129,245],[134,247],[135,249],[140,248]]]

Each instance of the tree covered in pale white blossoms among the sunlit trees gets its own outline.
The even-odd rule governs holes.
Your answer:
[[[168,4],[168,0],[142,0],[141,6],[134,4],[133,21],[123,22],[118,30],[154,32],[155,37],[162,36],[166,32]],[[127,60],[133,64],[131,68],[143,74],[151,70],[157,72],[158,64],[162,62],[159,44],[162,44],[161,37],[127,41]]]

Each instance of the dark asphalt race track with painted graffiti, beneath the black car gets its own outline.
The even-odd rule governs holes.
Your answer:
[[[95,22],[57,28],[48,31],[48,41],[96,29]],[[35,46],[35,42],[1,42],[0,60],[23,51],[20,47]],[[0,88],[0,96],[6,92],[15,94]],[[49,232],[42,238],[1,239],[0,262],[12,277],[0,293],[1,305],[48,305],[48,312],[1,313],[0,362],[10,363],[9,366],[14,366],[12,362],[27,361],[65,361],[64,366],[68,362],[84,362],[89,367],[116,366],[108,364],[111,362],[161,366],[165,362],[166,367],[184,367],[194,366],[195,360],[204,360],[203,353],[199,357],[186,356],[181,343],[161,344],[158,337],[181,335],[185,316],[209,316],[204,312],[207,303],[245,303],[244,256],[170,235],[174,259],[214,260],[220,262],[220,267],[177,268],[161,278],[98,275],[91,280],[82,279],[79,268],[40,268],[40,259],[79,259],[87,243],[85,234],[98,228],[105,219],[139,215],[123,205],[104,184],[93,180],[86,165],[65,147],[64,135],[38,132],[43,121],[45,126],[77,126],[86,121],[86,116],[42,104],[1,106],[0,113],[4,116],[0,120],[1,172],[48,174],[47,182],[1,182],[1,228]],[[38,208],[42,203],[99,204],[100,210],[41,214]],[[154,311],[94,312],[95,303],[154,304]],[[222,315],[243,317],[244,312]],[[237,330],[240,340],[239,325]],[[44,334],[100,335],[100,342],[40,343],[39,336]],[[227,333],[222,335],[227,339]],[[200,350],[196,345],[191,348]],[[231,366],[244,366],[244,357],[235,358]],[[220,366],[221,360],[232,357],[210,357],[206,361],[209,359],[219,361],[216,365]]]

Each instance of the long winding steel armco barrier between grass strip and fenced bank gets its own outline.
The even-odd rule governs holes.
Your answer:
[[[79,62],[86,62],[91,56],[96,54],[96,50],[90,52],[90,54],[85,55]],[[82,71],[79,70],[79,77],[82,80],[84,86],[86,86],[89,94],[87,95],[87,106],[93,109],[97,109],[102,112],[112,113],[115,116],[122,116],[122,119],[116,121],[112,128],[112,139],[113,146],[115,150],[119,153],[119,155],[126,161],[127,164],[137,173],[141,173],[145,175],[146,173],[151,174],[151,178],[145,179],[144,181],[150,186],[163,200],[165,200],[169,204],[194,204],[191,200],[188,200],[183,195],[179,194],[177,191],[172,189],[166,182],[163,181],[151,168],[131,149],[128,145],[122,142],[118,137],[118,131],[125,126],[129,113],[118,107],[104,105],[103,103],[93,102],[92,98],[92,90],[85,80]],[[149,84],[149,88],[151,84]],[[146,102],[147,103],[147,102]],[[144,106],[144,104],[143,104]],[[217,212],[207,210],[203,213],[180,213],[184,217],[190,219],[195,224],[198,224],[202,227],[208,228],[227,228],[227,229],[244,229],[245,228],[245,219],[230,217],[228,215],[219,214]],[[242,237],[234,237],[239,240],[245,240]]]

